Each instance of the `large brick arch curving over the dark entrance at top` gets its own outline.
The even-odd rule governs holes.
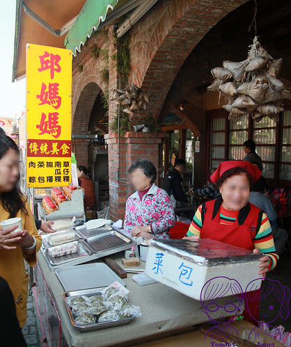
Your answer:
[[[140,48],[136,42],[132,42],[131,48],[135,57],[129,79],[151,98],[142,115],[159,117],[175,76],[191,51],[220,19],[246,1],[159,1],[148,18],[136,25],[132,36],[137,34],[139,38],[143,35],[144,21],[154,26],[144,33],[146,42]]]

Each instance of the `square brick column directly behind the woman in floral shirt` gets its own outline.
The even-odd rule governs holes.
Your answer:
[[[125,136],[119,138],[119,153],[118,134],[107,134],[104,138],[108,145],[111,219],[124,219],[125,202],[127,197],[133,193],[129,186],[128,169],[136,159],[146,158],[152,161],[157,168],[156,184],[159,184],[163,170],[160,167],[162,161],[159,160],[159,154],[162,154],[164,133],[159,133],[154,137],[142,132],[127,132]]]

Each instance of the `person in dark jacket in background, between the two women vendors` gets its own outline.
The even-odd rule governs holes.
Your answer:
[[[182,187],[182,176],[186,172],[186,161],[184,159],[175,159],[175,166],[164,177],[163,188],[171,196],[173,193],[175,200],[188,202]]]

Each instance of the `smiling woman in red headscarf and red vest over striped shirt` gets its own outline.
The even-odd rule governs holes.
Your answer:
[[[266,214],[249,202],[251,184],[262,172],[247,161],[225,161],[210,179],[221,197],[200,205],[186,239],[213,239],[264,254],[258,275],[264,277],[278,261],[272,228]],[[253,302],[252,316],[259,316],[259,302]],[[254,312],[255,311],[255,312]],[[248,319],[247,312],[244,317]],[[252,319],[250,319],[253,321]]]

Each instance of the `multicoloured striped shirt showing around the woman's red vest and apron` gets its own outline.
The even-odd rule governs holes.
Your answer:
[[[200,231],[202,228],[201,210],[202,205],[198,207],[195,213],[195,216],[187,232],[187,236],[200,236]],[[228,211],[226,209],[223,209],[223,207],[221,206],[219,213],[221,224],[233,225],[239,211]],[[265,213],[262,213],[262,223],[260,225],[258,233],[255,235],[254,248],[258,248],[261,253],[264,253],[269,257],[269,270],[272,270],[277,264],[278,255],[276,254],[275,250],[272,227]]]

